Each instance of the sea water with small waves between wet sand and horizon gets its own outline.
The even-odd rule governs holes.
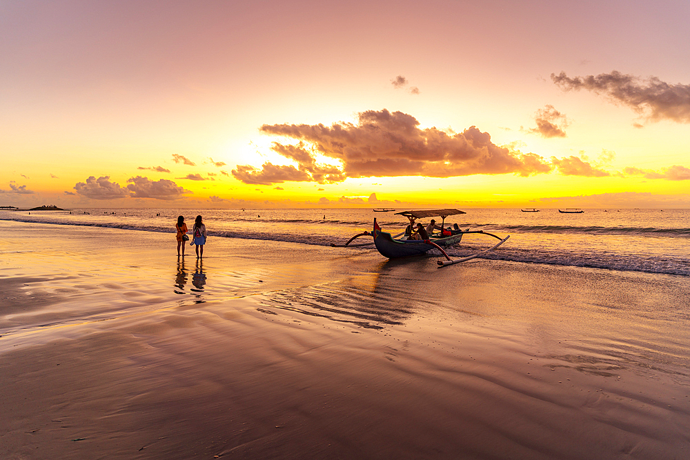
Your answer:
[[[164,234],[175,233],[177,216],[183,215],[191,230],[196,215],[201,214],[211,239],[330,246],[371,231],[375,218],[384,230],[398,234],[408,223],[405,217],[395,214],[400,211],[76,208],[0,211],[0,220],[159,232],[161,238],[170,238]],[[510,235],[503,246],[482,255],[485,259],[690,276],[690,210],[585,209],[582,214],[563,214],[558,209],[522,212],[469,208],[465,212],[448,217],[444,224],[457,223],[462,229],[484,230],[502,238]],[[420,221],[426,224],[428,220]],[[371,237],[361,237],[355,243],[370,241]],[[464,257],[489,248],[496,241],[486,235],[469,234],[446,252],[451,257]],[[375,251],[375,248],[333,248],[333,251]],[[429,254],[440,257],[437,251]]]

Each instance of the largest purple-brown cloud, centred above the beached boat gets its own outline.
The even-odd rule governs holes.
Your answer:
[[[409,114],[368,110],[358,122],[318,125],[264,125],[260,131],[288,137],[293,145],[274,142],[271,149],[295,161],[295,166],[265,163],[262,170],[237,166],[236,179],[270,185],[281,181],[342,182],[348,177],[456,177],[471,174],[531,174],[553,166],[537,154],[522,154],[491,142],[489,133],[475,126],[447,134],[437,128],[420,129]],[[315,154],[338,166],[319,165]]]

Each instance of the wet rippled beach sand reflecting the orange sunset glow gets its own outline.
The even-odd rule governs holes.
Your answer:
[[[2,459],[690,458],[685,277],[0,231]]]

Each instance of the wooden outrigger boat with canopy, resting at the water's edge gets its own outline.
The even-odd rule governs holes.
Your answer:
[[[376,219],[374,219],[374,228],[372,232],[362,232],[359,234],[356,234],[354,237],[349,239],[347,243],[344,244],[337,244],[337,243],[331,243],[331,246],[334,248],[354,248],[357,246],[371,246],[372,244],[376,246],[376,249],[381,253],[382,256],[388,257],[388,259],[397,259],[399,257],[409,257],[409,256],[417,256],[421,254],[426,254],[426,252],[432,250],[432,249],[437,249],[440,250],[441,254],[446,257],[446,260],[440,260],[437,261],[438,265],[440,267],[444,266],[449,266],[453,265],[453,263],[460,263],[464,261],[469,261],[471,259],[475,259],[475,257],[479,257],[482,254],[485,254],[486,252],[492,251],[495,248],[498,248],[501,246],[503,243],[506,242],[507,239],[510,238],[510,235],[501,238],[497,237],[493,233],[489,232],[484,232],[483,230],[449,230],[444,228],[444,223],[446,221],[446,217],[449,216],[454,216],[457,214],[465,214],[464,211],[460,211],[457,209],[430,209],[430,210],[417,210],[417,211],[403,211],[403,212],[396,212],[396,215],[400,214],[404,217],[407,217],[407,219],[410,221],[410,225],[408,226],[407,230],[396,234],[395,236],[391,235],[389,232],[384,232],[377,223]],[[408,239],[410,236],[412,230],[415,228],[415,221],[417,219],[424,219],[426,217],[441,217],[442,222],[441,222],[441,227],[444,228],[444,230],[441,230],[440,232],[433,233],[429,235],[428,239],[421,240],[421,239]],[[473,254],[468,257],[463,257],[462,259],[451,259],[448,254],[446,254],[446,251],[444,251],[443,247],[445,246],[453,246],[457,243],[460,243],[460,240],[462,239],[462,236],[465,234],[485,234],[489,237],[493,237],[495,239],[500,240],[498,243],[495,244],[495,246],[484,250],[482,252],[477,252],[477,254]],[[359,237],[373,237],[374,241],[371,243],[354,243],[355,239]],[[402,237],[402,238],[400,238]]]

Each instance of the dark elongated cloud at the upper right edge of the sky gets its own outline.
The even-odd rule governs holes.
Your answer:
[[[562,90],[588,90],[628,106],[652,121],[669,119],[690,123],[690,85],[672,85],[657,77],[641,79],[613,71],[608,74],[568,77],[565,72],[551,74]]]

